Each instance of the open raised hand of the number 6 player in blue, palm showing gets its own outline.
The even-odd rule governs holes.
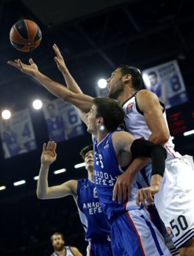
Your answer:
[[[52,164],[56,158],[57,154],[55,152],[57,144],[54,141],[49,141],[47,146],[46,143],[43,144],[43,152],[41,155],[41,163],[42,164]]]

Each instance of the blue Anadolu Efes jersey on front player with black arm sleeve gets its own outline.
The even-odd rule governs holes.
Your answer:
[[[113,131],[119,132],[119,131]],[[138,172],[132,183],[132,197],[125,203],[118,202],[118,199],[112,200],[112,192],[117,177],[123,173],[120,168],[115,150],[112,145],[112,133],[110,132],[104,139],[97,143],[93,139],[94,145],[94,178],[97,188],[97,195],[105,214],[109,219],[116,212],[127,211],[139,208],[135,203],[135,197],[138,189],[146,187],[146,180],[141,172]]]

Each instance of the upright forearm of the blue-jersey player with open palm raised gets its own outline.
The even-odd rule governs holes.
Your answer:
[[[49,193],[48,187],[48,171],[50,165],[41,165],[39,177],[37,181],[37,197],[39,199],[46,199]]]

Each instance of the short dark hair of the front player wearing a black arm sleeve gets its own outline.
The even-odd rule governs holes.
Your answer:
[[[94,98],[93,102],[97,106],[97,117],[104,119],[105,128],[109,131],[117,129],[125,116],[119,102],[104,97]]]

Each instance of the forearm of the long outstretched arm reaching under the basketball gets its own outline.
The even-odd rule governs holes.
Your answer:
[[[62,86],[60,83],[53,81],[39,71],[36,72],[32,77],[40,84],[42,84],[54,96],[61,98],[67,102],[69,101],[70,91],[66,87]]]

